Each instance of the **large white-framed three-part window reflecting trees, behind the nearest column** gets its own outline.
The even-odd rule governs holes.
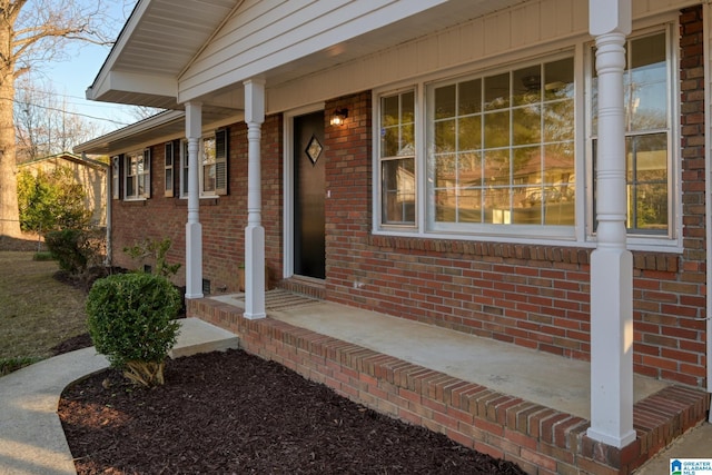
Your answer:
[[[627,230],[635,246],[681,244],[674,31],[670,23],[626,42]],[[567,47],[376,91],[374,231],[595,240],[594,51]]]

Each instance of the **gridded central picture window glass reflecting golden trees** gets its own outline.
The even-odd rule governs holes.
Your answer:
[[[574,225],[573,58],[436,83],[428,105],[433,229]]]

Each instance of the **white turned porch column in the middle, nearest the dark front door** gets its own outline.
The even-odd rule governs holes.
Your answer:
[[[265,318],[265,228],[261,226],[261,125],[265,121],[265,81],[245,81],[247,122],[247,228],[245,229],[245,318]]]

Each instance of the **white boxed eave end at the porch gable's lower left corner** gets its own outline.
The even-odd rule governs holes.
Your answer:
[[[87,89],[87,99],[101,100],[102,96],[113,91],[176,97],[178,83],[175,78],[166,76],[110,71],[103,76],[100,83],[95,83]]]

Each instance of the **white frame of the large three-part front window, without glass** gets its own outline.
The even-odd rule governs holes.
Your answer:
[[[651,24],[651,23],[649,23]],[[656,22],[654,26],[645,29],[635,30],[630,38],[636,36],[649,34],[652,31],[661,31],[663,28],[668,30],[668,38],[671,44],[669,55],[669,73],[671,75],[671,107],[669,117],[671,120],[671,139],[670,139],[670,162],[669,168],[669,207],[672,210],[670,218],[670,234],[666,236],[635,236],[629,235],[629,246],[636,250],[653,250],[653,251],[682,251],[682,208],[679,199],[681,187],[681,170],[676,166],[680,160],[680,111],[678,101],[674,98],[679,97],[679,44],[676,34],[679,24],[676,16],[669,17],[665,23]],[[388,235],[388,236],[415,236],[422,238],[433,239],[461,239],[473,241],[497,241],[497,243],[513,243],[513,244],[547,244],[560,246],[575,246],[575,247],[594,247],[595,235],[591,232],[593,216],[593,191],[592,191],[592,157],[590,150],[590,140],[587,140],[587,130],[590,130],[591,111],[589,110],[589,101],[585,93],[590,91],[591,71],[587,66],[591,65],[591,49],[590,38],[580,37],[574,42],[562,44],[560,48],[552,48],[551,51],[557,51],[555,53],[546,53],[544,51],[541,56],[524,58],[521,53],[513,53],[511,57],[501,57],[501,67],[492,65],[484,70],[475,69],[475,67],[462,67],[449,70],[447,72],[434,73],[427,77],[418,78],[415,81],[404,81],[395,83],[389,87],[374,89],[373,91],[373,212],[372,212],[372,232],[374,235]],[[520,55],[517,57],[517,55]],[[526,66],[527,62],[546,62],[552,58],[560,58],[564,56],[573,56],[574,58],[574,103],[575,103],[575,224],[574,226],[516,226],[513,225],[486,225],[481,229],[433,229],[428,226],[428,220],[432,219],[428,216],[426,206],[427,199],[434,199],[428,194],[427,187],[427,127],[431,125],[427,122],[427,90],[428,86],[435,82],[456,80],[462,76],[477,75],[481,77],[495,75],[501,70],[517,69],[521,66]],[[414,227],[406,226],[389,226],[382,222],[382,176],[380,176],[380,99],[383,97],[392,96],[402,90],[414,89],[415,102],[416,102],[416,224]],[[556,229],[558,228],[558,229]]]

